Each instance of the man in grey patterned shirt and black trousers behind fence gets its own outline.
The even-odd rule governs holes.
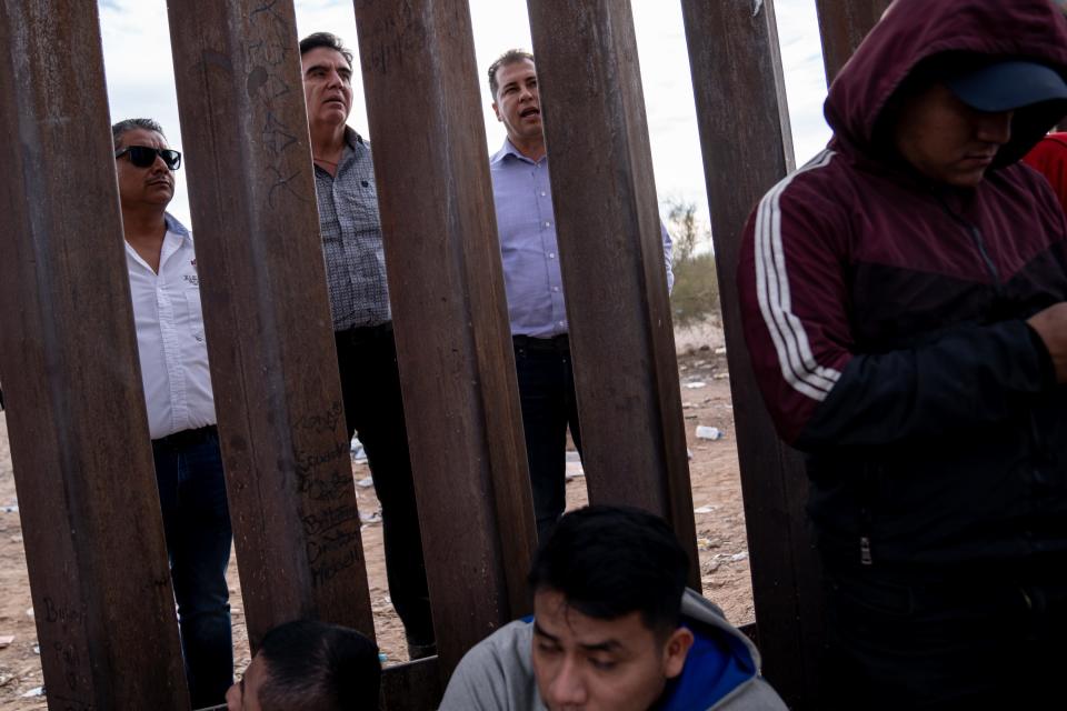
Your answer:
[[[389,595],[412,659],[436,653],[415,504],[370,147],[346,126],[352,53],[317,32],[300,41],[319,227],[348,434],[359,433],[381,502]]]

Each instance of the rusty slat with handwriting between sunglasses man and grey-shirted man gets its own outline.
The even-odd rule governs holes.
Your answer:
[[[249,639],[372,637],[292,1],[168,4]]]

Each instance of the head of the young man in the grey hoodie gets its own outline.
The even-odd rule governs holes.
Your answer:
[[[680,627],[688,567],[667,523],[645,511],[594,505],[560,519],[529,574],[545,704],[651,708],[694,642]]]

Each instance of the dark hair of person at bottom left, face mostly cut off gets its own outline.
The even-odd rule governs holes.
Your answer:
[[[259,647],[267,679],[263,711],[363,711],[378,708],[378,647],[346,627],[313,620],[286,622]]]

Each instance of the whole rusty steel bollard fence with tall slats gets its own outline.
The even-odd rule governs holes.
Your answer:
[[[828,76],[887,4],[818,0]],[[388,668],[382,704],[422,710],[467,649],[529,611],[536,535],[468,3],[353,6],[440,649]],[[731,287],[748,211],[792,168],[774,3],[682,8],[757,634],[768,679],[812,708],[821,600],[806,487],[796,453],[766,444],[778,440]],[[590,500],[664,515],[697,562],[629,1],[529,10]],[[299,617],[373,635],[292,0],[171,0],[169,17],[249,639]],[[182,711],[99,37],[96,2],[0,0],[0,371],[49,708]],[[403,92],[427,76],[430,90]],[[739,152],[748,134],[767,150]]]

